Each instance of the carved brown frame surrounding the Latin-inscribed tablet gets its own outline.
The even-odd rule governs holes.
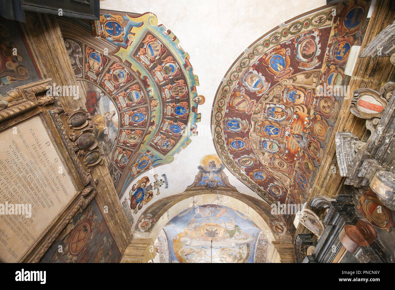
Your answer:
[[[102,149],[97,146],[94,139],[89,140],[89,142],[92,142],[92,145],[83,146],[87,147],[85,149],[79,148],[79,146],[81,147],[81,142],[75,142],[82,134],[86,134],[87,131],[91,132],[90,115],[81,107],[76,111],[65,109],[58,96],[46,94],[48,86],[53,86],[51,79],[40,80],[9,91],[5,96],[8,106],[0,109],[0,134],[2,131],[25,120],[39,116],[41,121],[47,125],[47,133],[67,167],[67,172],[77,189],[77,194],[68,202],[64,210],[56,215],[47,226],[45,232],[16,262],[40,261],[41,257],[74,215],[81,212],[96,195],[95,183],[97,183],[97,180],[93,180],[89,168],[103,162]],[[70,124],[71,116],[77,112],[82,116],[83,120],[86,119],[85,122],[82,122],[84,124],[78,128],[72,127]],[[85,142],[84,144],[86,145],[87,143]],[[84,164],[84,156],[86,157],[92,152],[95,152],[95,156],[98,158],[90,164]],[[1,258],[0,261],[3,262]]]

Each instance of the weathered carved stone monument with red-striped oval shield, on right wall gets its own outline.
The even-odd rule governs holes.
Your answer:
[[[366,119],[367,140],[350,132],[337,132],[336,155],[344,184],[369,186],[385,206],[395,210],[395,84],[388,82],[380,92],[355,90],[350,111]]]

